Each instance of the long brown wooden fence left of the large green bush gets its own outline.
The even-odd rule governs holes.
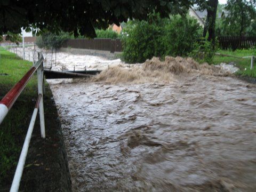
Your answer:
[[[102,50],[121,52],[122,44],[120,39],[68,39],[63,43],[62,47],[71,47],[76,49],[92,49],[92,50]]]

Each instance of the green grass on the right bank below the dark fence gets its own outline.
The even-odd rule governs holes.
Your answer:
[[[236,57],[246,57],[246,56],[256,56],[256,49],[249,49],[249,50],[218,50],[217,53],[221,54],[227,54],[227,55],[233,55]],[[236,67],[238,67],[240,70],[237,72],[237,75],[242,76],[248,76],[248,77],[256,77],[256,59],[254,59],[254,67],[251,70],[251,58],[246,59],[238,59],[233,57],[224,57],[220,55],[215,55],[213,58],[213,63],[215,65],[220,64],[221,62],[229,63],[234,62],[236,64]]]

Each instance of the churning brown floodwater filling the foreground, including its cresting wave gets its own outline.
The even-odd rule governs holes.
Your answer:
[[[253,191],[256,86],[196,63],[151,74],[149,64],[126,69],[147,73],[138,82],[113,68],[102,75],[131,81],[50,83],[73,190]]]

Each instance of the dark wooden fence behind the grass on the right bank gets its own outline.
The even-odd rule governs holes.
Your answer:
[[[222,49],[248,49],[256,46],[256,37],[220,36],[218,41]]]

